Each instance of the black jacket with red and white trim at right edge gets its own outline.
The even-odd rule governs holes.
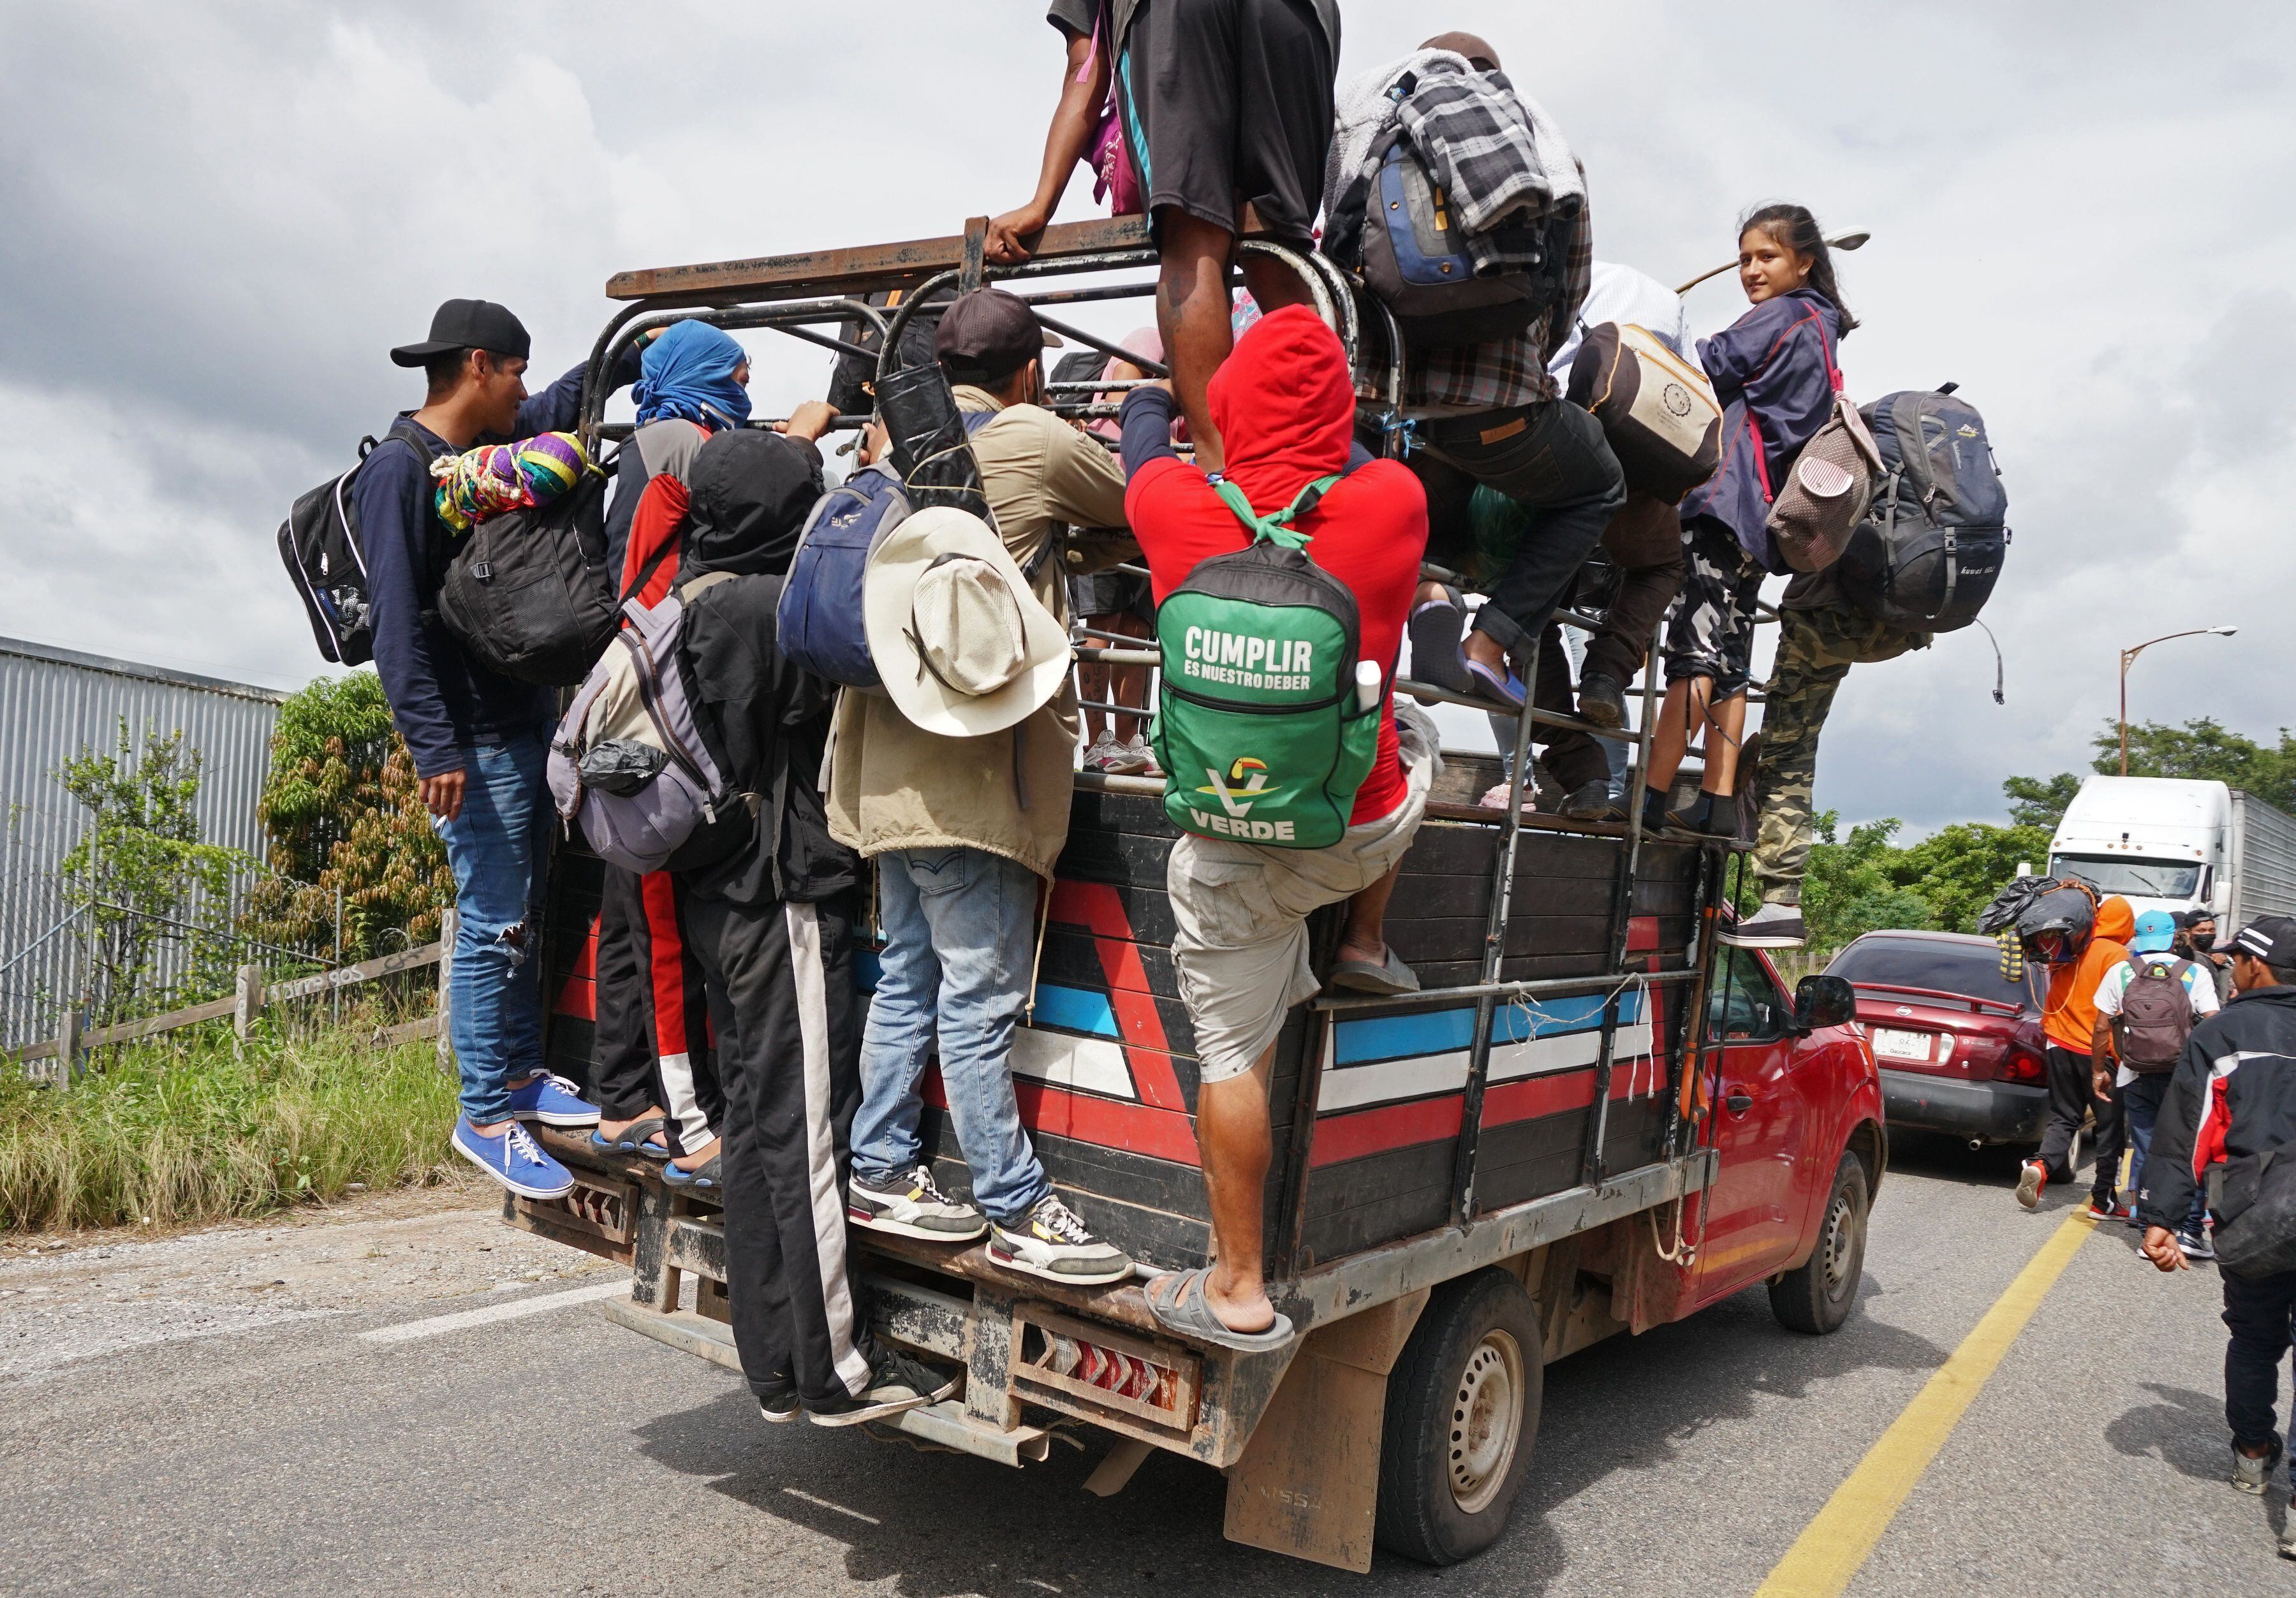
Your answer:
[[[2138,1215],[2177,1231],[2218,1159],[2296,1143],[2296,987],[2234,994],[2200,1022],[2177,1058]]]

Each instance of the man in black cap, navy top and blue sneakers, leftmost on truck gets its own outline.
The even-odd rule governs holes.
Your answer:
[[[521,1120],[597,1125],[572,1081],[542,1068],[542,868],[551,797],[542,783],[553,698],[471,659],[439,620],[455,544],[429,464],[475,443],[574,427],[583,367],[526,397],[526,326],[491,301],[445,301],[429,338],[390,358],[422,367],[422,406],[402,411],[351,496],[374,599],[374,670],[406,739],[432,829],[455,870],[448,1035],[461,1068],[455,1153],[514,1194],[558,1198],[574,1176]],[[631,377],[636,351],[613,374]],[[390,448],[397,443],[400,448]]]

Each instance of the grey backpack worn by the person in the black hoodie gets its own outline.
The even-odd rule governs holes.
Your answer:
[[[622,631],[551,735],[558,817],[567,829],[579,820],[590,850],[622,870],[693,870],[751,833],[748,806],[693,719],[677,650],[684,602],[730,576],[698,576],[652,608],[622,604]]]

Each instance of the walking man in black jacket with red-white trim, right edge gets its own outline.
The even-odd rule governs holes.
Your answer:
[[[2206,1192],[2211,1164],[2296,1141],[2296,918],[2257,916],[2232,939],[2229,955],[2232,1003],[2183,1045],[2138,1194],[2144,1258],[2158,1270],[2188,1270],[2177,1233]],[[2232,1485],[2264,1492],[2282,1453],[2273,1405],[2296,1322],[2296,1270],[2220,1277],[2232,1329],[2225,1345]],[[2280,1554],[2296,1559],[2296,1520],[2280,1538]]]

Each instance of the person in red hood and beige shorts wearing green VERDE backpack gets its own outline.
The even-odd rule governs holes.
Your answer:
[[[1258,517],[1336,478],[1290,519],[1309,558],[1352,595],[1357,659],[1375,664],[1380,739],[1355,792],[1348,831],[1322,850],[1286,850],[1185,833],[1164,868],[1173,967],[1196,1031],[1196,1150],[1219,1258],[1150,1286],[1166,1327],[1226,1348],[1281,1348],[1290,1320],[1267,1302],[1261,1260],[1272,1134],[1267,1077],[1283,1015],[1320,983],[1309,967],[1306,918],[1348,905],[1339,962],[1398,969],[1384,941],[1396,886],[1435,774],[1435,728],[1394,705],[1403,620],[1426,551],[1426,491],[1398,461],[1373,461],[1355,434],[1355,386],[1339,335],[1316,312],[1272,310],[1235,344],[1208,393],[1228,439],[1224,489]],[[1123,406],[1125,507],[1148,558],[1157,604],[1201,560],[1244,549],[1251,530],[1199,466],[1171,448],[1171,393],[1134,388]]]

